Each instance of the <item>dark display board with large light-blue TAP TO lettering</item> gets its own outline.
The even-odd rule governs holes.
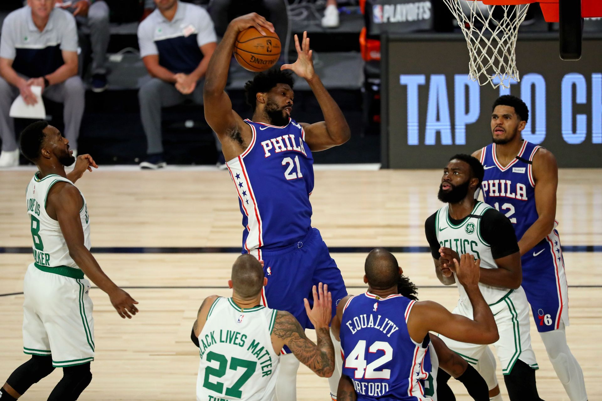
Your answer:
[[[383,165],[438,168],[453,154],[488,145],[491,105],[510,94],[529,107],[523,138],[550,149],[560,167],[602,167],[602,37],[584,40],[581,60],[562,61],[557,36],[523,36],[521,81],[510,89],[468,78],[464,38],[419,38],[385,40]]]

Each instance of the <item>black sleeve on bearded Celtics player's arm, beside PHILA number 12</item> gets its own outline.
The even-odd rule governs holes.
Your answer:
[[[491,255],[494,259],[512,255],[520,250],[512,223],[495,209],[483,213],[480,232],[483,240],[491,245]]]

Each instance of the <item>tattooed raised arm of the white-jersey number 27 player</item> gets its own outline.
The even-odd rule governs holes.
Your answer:
[[[332,316],[332,295],[328,292],[327,285],[313,287],[314,307],[309,309],[309,302],[305,299],[305,311],[309,320],[315,327],[317,345],[306,337],[305,331],[297,319],[289,312],[278,311],[276,322],[272,331],[275,350],[287,345],[299,361],[323,378],[332,376],[335,368],[335,350],[330,340],[328,325]],[[318,296],[319,294],[319,296]]]

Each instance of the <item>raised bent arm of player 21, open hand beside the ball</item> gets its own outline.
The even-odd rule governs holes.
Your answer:
[[[314,124],[302,123],[305,130],[305,142],[312,152],[343,145],[351,137],[351,130],[343,111],[338,107],[337,102],[332,99],[318,74],[315,73],[307,32],[303,32],[301,43],[299,43],[299,37],[295,35],[295,48],[297,49],[297,61],[293,64],[284,64],[281,69],[292,70],[300,78],[305,78],[324,115],[324,121]]]

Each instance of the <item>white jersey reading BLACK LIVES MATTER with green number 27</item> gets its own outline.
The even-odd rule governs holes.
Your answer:
[[[197,401],[272,401],[279,354],[272,346],[276,309],[240,309],[232,298],[215,300],[199,335]]]

